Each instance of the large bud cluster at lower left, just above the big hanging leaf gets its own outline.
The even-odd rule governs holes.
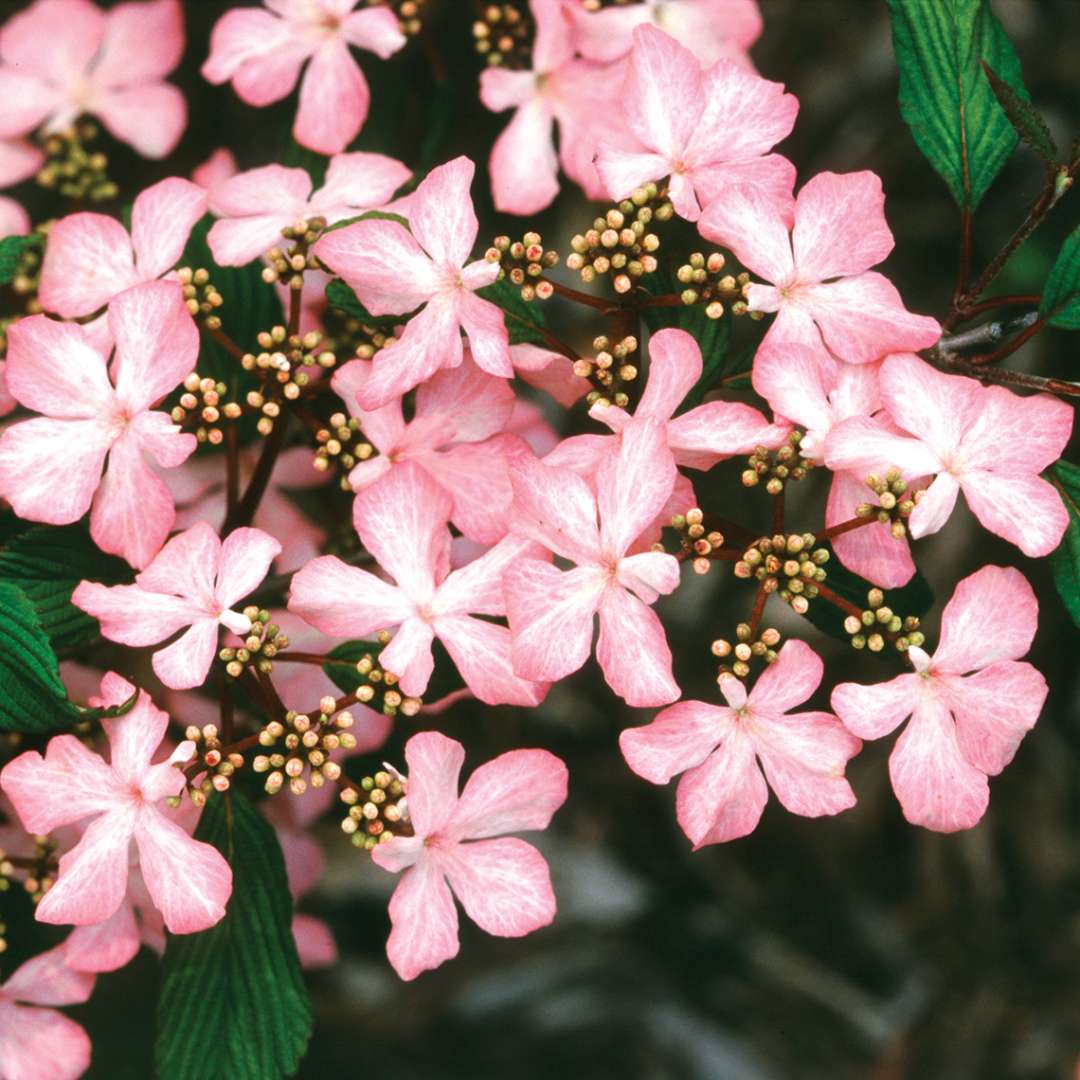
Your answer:
[[[288,780],[288,789],[302,795],[310,784],[322,787],[341,777],[341,766],[330,760],[336,750],[352,750],[356,737],[349,730],[352,713],[337,712],[338,703],[330,697],[319,702],[314,718],[292,710],[284,721],[271,720],[259,732],[259,746],[268,753],[258,754],[252,768],[267,773],[266,789],[276,795]]]

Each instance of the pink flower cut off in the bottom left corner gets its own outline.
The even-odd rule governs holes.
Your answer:
[[[65,945],[16,968],[0,986],[0,1077],[81,1077],[90,1068],[90,1038],[50,1007],[82,1004],[93,989],[93,975],[67,966]]]

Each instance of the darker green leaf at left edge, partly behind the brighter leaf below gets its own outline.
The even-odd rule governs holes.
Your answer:
[[[54,649],[75,648],[98,636],[97,620],[71,603],[80,581],[118,585],[132,578],[127,564],[99,551],[82,525],[32,526],[0,548],[0,581],[23,591]]]

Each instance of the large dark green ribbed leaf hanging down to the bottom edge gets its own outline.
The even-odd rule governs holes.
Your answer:
[[[206,804],[195,839],[232,867],[225,918],[170,935],[158,1002],[160,1080],[275,1080],[311,1037],[285,862],[269,822],[233,789]]]

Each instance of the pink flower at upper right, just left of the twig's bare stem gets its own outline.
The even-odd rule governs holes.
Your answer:
[[[905,310],[891,282],[869,270],[893,247],[883,207],[874,173],[819,173],[798,193],[794,229],[750,188],[711,203],[699,229],[772,282],[747,291],[752,311],[777,312],[766,341],[867,364],[941,336],[933,319]]]

